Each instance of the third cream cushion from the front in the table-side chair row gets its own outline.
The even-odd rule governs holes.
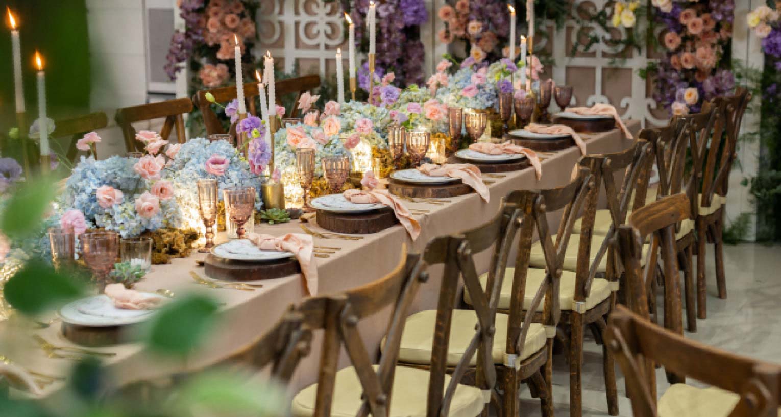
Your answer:
[[[501,282],[501,294],[499,295],[499,308],[509,309],[510,298],[512,292],[512,275],[515,273],[515,268],[505,269],[505,280]],[[523,292],[523,309],[528,310],[532,301],[534,300],[534,294],[537,294],[537,289],[542,285],[545,279],[545,270],[538,268],[530,268],[529,273],[526,274],[526,290]],[[488,280],[488,273],[484,273],[480,276],[480,283],[485,288],[486,281]],[[591,281],[591,293],[586,298],[586,309],[594,308],[596,305],[610,297],[610,283],[608,280],[602,278],[594,278]],[[559,280],[558,287],[558,305],[562,310],[572,310],[572,301],[575,299],[575,273],[572,271],[562,271],[562,279]],[[472,304],[472,299],[469,298],[469,292],[464,291],[464,301],[467,304]],[[537,311],[541,312],[544,308],[544,301],[540,302],[537,306]]]

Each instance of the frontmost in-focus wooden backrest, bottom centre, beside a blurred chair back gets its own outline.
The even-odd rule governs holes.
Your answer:
[[[391,388],[394,371],[409,308],[416,290],[423,280],[423,262],[420,255],[402,251],[398,266],[387,276],[344,294],[307,298],[296,309],[304,317],[308,330],[323,330],[318,384],[315,400],[315,417],[329,417],[333,405],[333,390],[338,368],[339,353],[344,346],[351,365],[358,374],[363,390],[364,403],[359,417],[371,413],[375,417],[387,417],[391,404]],[[378,369],[363,343],[358,323],[386,308],[393,308]],[[360,393],[355,393],[360,395]]]

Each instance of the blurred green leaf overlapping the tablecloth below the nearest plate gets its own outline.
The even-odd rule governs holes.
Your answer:
[[[215,324],[218,305],[205,295],[177,298],[149,323],[146,342],[152,351],[184,356],[196,350]]]

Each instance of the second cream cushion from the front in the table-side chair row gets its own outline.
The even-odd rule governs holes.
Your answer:
[[[505,347],[507,346],[507,323],[509,316],[496,315],[496,333],[494,333],[494,348],[491,356],[494,363],[504,363]],[[429,364],[431,363],[431,348],[434,340],[434,323],[437,321],[437,310],[425,310],[415,313],[407,319],[404,333],[401,334],[401,346],[398,359],[401,362]],[[450,330],[450,342],[448,344],[448,365],[455,366],[461,360],[466,347],[475,335],[477,315],[473,310],[454,310],[453,326]],[[529,358],[534,352],[545,346],[545,327],[540,323],[532,323],[529,332],[526,333],[526,344],[520,359]],[[383,347],[385,341],[383,340]],[[472,358],[470,365],[476,365],[477,355]]]

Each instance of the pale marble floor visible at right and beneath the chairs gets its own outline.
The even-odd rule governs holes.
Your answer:
[[[781,246],[726,245],[724,262],[728,298],[720,300],[715,295],[713,251],[708,245],[708,319],[697,320],[697,333],[686,332],[686,337],[752,358],[781,363]],[[684,317],[685,314],[684,311]],[[602,347],[594,340],[587,340],[583,360],[583,415],[607,416]],[[618,365],[616,375],[619,415],[629,417],[632,408]],[[554,358],[553,376],[555,413],[569,415],[569,368],[561,356]],[[669,387],[661,369],[657,370],[657,384],[660,394]],[[524,417],[540,415],[540,402],[532,398],[526,388],[522,393],[520,414]]]

